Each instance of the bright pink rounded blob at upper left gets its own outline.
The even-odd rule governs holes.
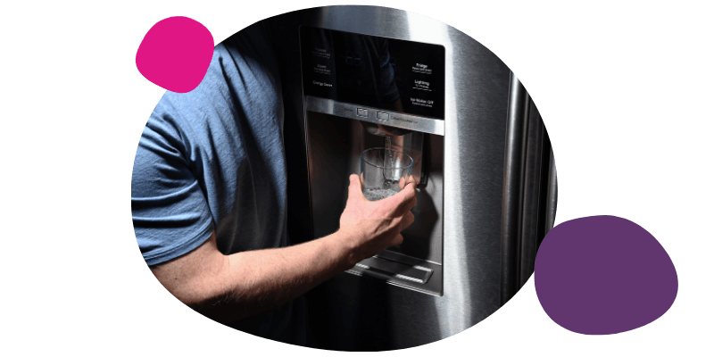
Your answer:
[[[137,49],[137,70],[155,85],[177,93],[198,87],[213,56],[213,35],[185,16],[156,22]]]

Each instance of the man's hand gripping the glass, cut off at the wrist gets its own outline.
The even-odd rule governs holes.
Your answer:
[[[349,247],[350,267],[390,246],[402,244],[400,232],[414,222],[410,210],[417,204],[417,193],[413,177],[400,180],[399,187],[402,190],[398,194],[370,202],[362,194],[360,178],[350,176],[349,197],[338,231]]]

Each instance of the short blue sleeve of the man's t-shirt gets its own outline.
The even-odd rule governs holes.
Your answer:
[[[134,233],[150,266],[191,252],[211,237],[213,228],[165,96],[142,132],[131,175]]]

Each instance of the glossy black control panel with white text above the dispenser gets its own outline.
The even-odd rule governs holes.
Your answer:
[[[305,95],[444,119],[444,46],[300,28]]]

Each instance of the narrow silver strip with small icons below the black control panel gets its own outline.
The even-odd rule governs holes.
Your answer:
[[[366,110],[367,116],[365,117],[359,115],[358,109]],[[310,112],[322,112],[325,114],[361,120],[372,124],[385,125],[398,129],[408,129],[422,133],[444,136],[444,120],[419,117],[401,112],[389,112],[384,109],[370,108],[365,105],[340,103],[332,99],[307,96],[305,99],[305,110]],[[377,115],[378,113],[387,114],[386,120],[379,120]],[[406,133],[406,131],[402,131],[396,132],[392,135],[404,135]]]

